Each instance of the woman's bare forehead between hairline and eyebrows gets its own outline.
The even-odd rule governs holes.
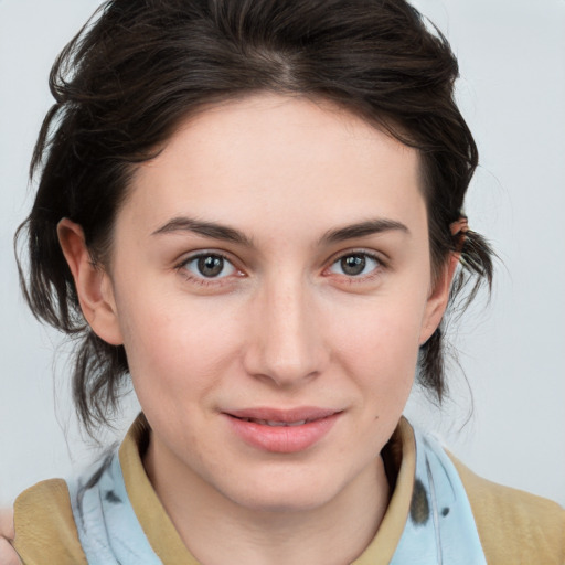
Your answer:
[[[419,217],[419,184],[417,151],[353,114],[326,100],[256,95],[186,119],[139,166],[128,200],[148,230],[188,214],[275,233],[278,224],[288,231],[289,218],[321,230],[363,216]]]

